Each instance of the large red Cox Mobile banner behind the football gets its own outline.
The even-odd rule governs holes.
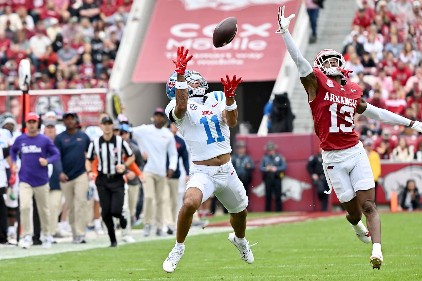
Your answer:
[[[200,72],[208,82],[220,82],[226,74],[244,81],[276,80],[286,47],[276,34],[278,7],[297,14],[299,0],[157,0],[133,72],[135,83],[166,82],[174,70],[172,59],[184,45],[193,55],[188,69]],[[215,48],[216,25],[234,16],[235,39]],[[295,25],[294,18],[290,30]]]

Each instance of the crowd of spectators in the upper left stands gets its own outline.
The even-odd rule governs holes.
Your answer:
[[[0,91],[107,87],[133,0],[0,0]]]

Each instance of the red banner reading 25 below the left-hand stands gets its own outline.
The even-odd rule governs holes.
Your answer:
[[[106,109],[106,89],[30,91],[30,111],[43,115],[48,111],[75,112],[81,126],[97,126],[98,112]],[[11,112],[22,121],[22,92],[0,91],[0,113]]]

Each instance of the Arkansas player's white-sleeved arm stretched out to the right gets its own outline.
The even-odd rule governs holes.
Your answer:
[[[382,123],[410,126],[415,131],[422,133],[422,123],[419,123],[419,121],[413,121],[389,110],[373,106],[372,104],[365,102],[363,98],[360,98],[360,102],[356,107],[356,112],[369,118],[376,119]]]

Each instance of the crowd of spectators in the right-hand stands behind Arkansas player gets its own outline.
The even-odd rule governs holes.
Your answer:
[[[343,42],[346,69],[353,71],[350,80],[362,87],[366,101],[412,120],[422,118],[421,3],[362,0],[352,32]],[[409,127],[379,123],[362,115],[355,123],[362,139],[376,139],[373,148],[384,159],[394,157],[395,148],[416,150],[422,140]]]

